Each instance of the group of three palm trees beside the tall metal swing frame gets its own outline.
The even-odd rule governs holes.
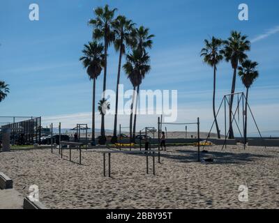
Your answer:
[[[213,68],[213,116],[216,124],[216,131],[220,139],[220,129],[216,118],[215,98],[216,98],[216,71],[218,64],[225,59],[230,62],[233,69],[232,89],[229,99],[229,139],[234,138],[232,128],[232,105],[234,102],[234,91],[236,87],[237,72],[241,77],[243,85],[246,87],[246,115],[244,124],[244,137],[247,137],[247,106],[248,91],[252,83],[257,79],[259,73],[257,71],[257,62],[248,59],[247,52],[250,51],[250,41],[248,37],[242,35],[241,32],[232,31],[231,36],[227,40],[212,37],[211,40],[204,40],[205,47],[201,51],[203,60]]]

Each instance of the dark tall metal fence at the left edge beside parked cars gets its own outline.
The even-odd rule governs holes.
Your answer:
[[[10,129],[13,145],[40,144],[41,117],[0,116],[0,139],[3,129]]]

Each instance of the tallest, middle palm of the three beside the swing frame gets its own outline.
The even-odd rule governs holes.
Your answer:
[[[236,86],[236,70],[239,63],[242,63],[248,56],[246,51],[250,50],[250,41],[247,36],[242,36],[240,32],[232,31],[231,36],[224,41],[224,49],[222,54],[225,56],[227,62],[231,62],[234,69],[232,77],[232,91],[229,100],[229,139],[234,139],[234,130],[232,129],[232,105],[234,102],[234,91]]]

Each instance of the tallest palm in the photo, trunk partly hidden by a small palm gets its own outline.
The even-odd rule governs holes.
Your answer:
[[[96,15],[95,19],[89,20],[89,24],[93,26],[93,38],[96,40],[103,40],[105,47],[105,61],[104,61],[104,81],[103,81],[103,94],[102,100],[105,100],[105,90],[107,82],[107,49],[110,43],[114,41],[114,31],[112,29],[112,22],[116,8],[110,10],[108,5],[104,8],[98,7],[94,10]],[[105,115],[102,114],[101,121],[101,138],[100,144],[105,144]]]

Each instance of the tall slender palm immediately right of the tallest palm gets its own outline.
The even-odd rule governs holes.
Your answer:
[[[133,47],[135,44],[132,33],[134,23],[132,20],[127,20],[125,16],[119,15],[113,22],[115,40],[114,48],[116,52],[119,52],[119,64],[117,70],[117,84],[116,84],[116,103],[115,103],[115,114],[114,114],[114,134],[112,137],[112,143],[117,141],[117,113],[118,113],[118,98],[119,98],[119,82],[120,82],[120,72],[121,72],[121,61],[122,56],[126,52],[126,47]]]

